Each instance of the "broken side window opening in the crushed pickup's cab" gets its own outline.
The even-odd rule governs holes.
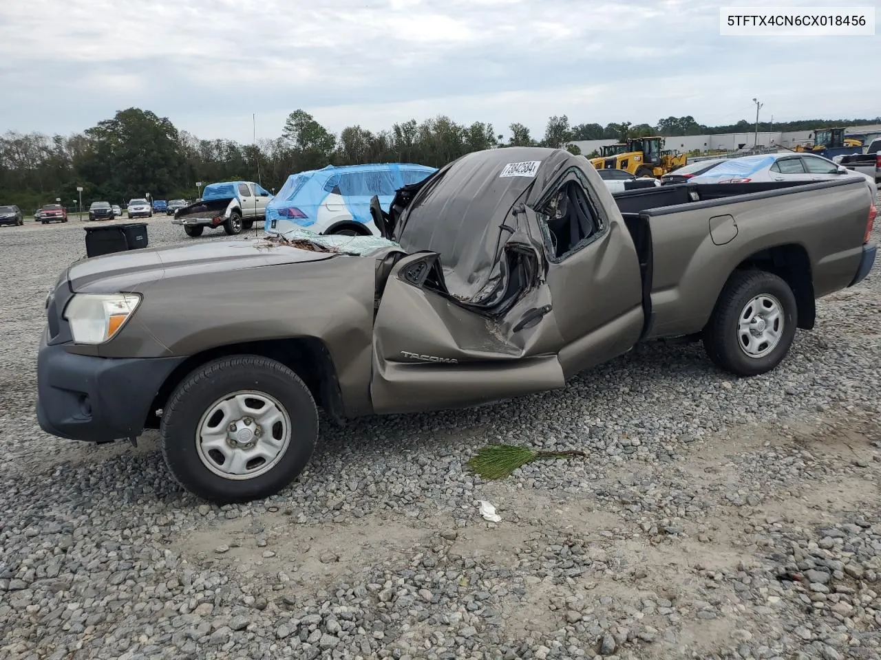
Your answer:
[[[566,181],[538,214],[550,239],[553,260],[565,259],[603,231],[603,221],[577,180]]]

